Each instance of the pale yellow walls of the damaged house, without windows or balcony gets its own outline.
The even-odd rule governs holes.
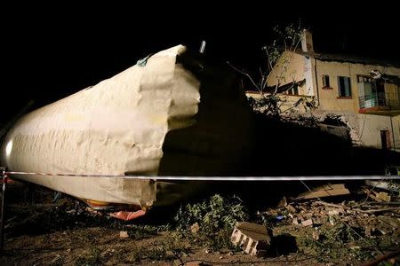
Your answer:
[[[392,66],[373,66],[353,64],[344,62],[322,61],[308,58],[299,54],[286,53],[285,59],[289,60],[287,68],[282,72],[284,60],[281,58],[279,64],[274,67],[275,71],[280,69],[284,73],[281,84],[306,79],[306,85],[299,91],[300,95],[315,96],[318,98],[319,106],[316,113],[335,113],[342,115],[351,128],[351,137],[358,145],[381,148],[381,130],[389,130],[391,148],[396,147],[400,152],[400,115],[378,115],[359,113],[357,75],[371,75],[371,70],[379,70],[381,74],[400,76],[400,68]],[[330,78],[330,87],[323,88],[323,75]],[[338,76],[350,78],[351,97],[339,97]],[[268,78],[268,86],[276,84],[276,75],[271,74]],[[385,93],[390,103],[399,103],[399,86],[392,83],[385,84]],[[297,97],[299,99],[299,97]],[[288,98],[284,107],[287,108],[296,101],[296,98]],[[393,104],[392,104],[393,106]],[[400,107],[400,106],[399,106]],[[295,108],[301,112],[301,108]],[[304,111],[303,111],[304,112]]]

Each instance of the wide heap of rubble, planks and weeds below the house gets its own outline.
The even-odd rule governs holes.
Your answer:
[[[344,192],[339,200],[333,197],[335,193],[321,200],[313,197],[321,196],[321,192],[310,191],[297,198],[284,198],[277,207],[258,215],[274,237],[291,235],[299,251],[316,255],[322,262],[335,258],[367,261],[383,255],[382,250],[398,250],[399,192],[376,187],[359,187],[351,193],[344,186],[339,189]]]

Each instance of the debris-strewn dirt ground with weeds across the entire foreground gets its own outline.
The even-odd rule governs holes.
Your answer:
[[[281,204],[276,206],[276,201],[269,203],[268,199],[265,207],[216,194],[187,203],[172,213],[175,219],[157,225],[88,212],[65,197],[54,204],[52,193],[42,190],[36,192],[32,210],[30,203],[12,200],[23,195],[15,192],[13,196],[12,187],[1,265],[358,265],[388,258],[387,254],[396,254],[400,246],[398,191],[362,184],[346,184],[351,194],[341,197],[294,200],[289,194],[279,195],[277,199],[284,199]],[[380,192],[388,193],[390,201],[379,202],[369,196]],[[248,232],[251,230],[245,231],[248,224],[255,224],[252,231],[262,232],[264,237],[268,232],[267,247],[261,248],[260,239]],[[245,237],[247,243],[240,248],[237,243],[245,242]],[[390,260],[395,264],[399,257]]]

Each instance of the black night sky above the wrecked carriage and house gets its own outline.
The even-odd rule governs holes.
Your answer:
[[[208,54],[257,68],[272,27],[291,21],[301,20],[311,29],[316,51],[400,62],[398,11],[382,1],[355,2],[354,7],[327,1],[276,6],[231,2],[220,7],[199,1],[112,7],[16,4],[2,9],[5,107],[0,122],[9,121],[30,98],[43,106],[179,43],[198,49],[205,39]]]

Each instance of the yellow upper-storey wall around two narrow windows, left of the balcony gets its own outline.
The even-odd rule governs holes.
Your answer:
[[[358,74],[370,75],[372,69],[377,69],[382,74],[394,74],[400,76],[400,68],[386,66],[372,66],[352,63],[327,62],[316,59],[316,78],[318,82],[319,109],[324,111],[350,111],[358,113]],[[323,88],[323,75],[328,74],[330,88]],[[340,98],[338,76],[350,78],[351,97]],[[386,84],[386,86],[396,86]],[[397,87],[397,86],[396,86]],[[387,88],[388,90],[388,88]],[[389,90],[396,90],[395,88]],[[397,88],[398,90],[398,88]]]

